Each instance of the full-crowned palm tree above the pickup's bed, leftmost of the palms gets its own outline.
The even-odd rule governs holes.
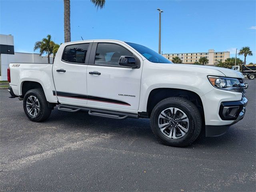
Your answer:
[[[54,42],[51,40],[51,35],[47,35],[47,38],[43,38],[42,41],[37,41],[34,46],[34,51],[40,49],[40,56],[46,52],[48,54],[48,63],[50,63],[50,54],[53,52]]]

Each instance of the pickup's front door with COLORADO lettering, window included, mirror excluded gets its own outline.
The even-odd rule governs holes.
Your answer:
[[[133,56],[140,68],[119,65],[120,56]],[[126,44],[94,41],[87,67],[88,105],[138,110],[142,58]]]

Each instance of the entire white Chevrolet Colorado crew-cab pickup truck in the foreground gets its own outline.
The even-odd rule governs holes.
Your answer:
[[[187,146],[202,129],[219,136],[244,117],[242,78],[230,69],[173,64],[139,44],[88,40],[62,44],[54,64],[11,63],[8,90],[34,122],[56,105],[96,117],[150,118],[164,144]]]

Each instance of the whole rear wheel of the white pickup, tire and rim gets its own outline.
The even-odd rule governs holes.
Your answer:
[[[52,112],[52,108],[48,107],[42,89],[32,89],[26,92],[23,100],[23,109],[29,120],[34,122],[46,120]]]

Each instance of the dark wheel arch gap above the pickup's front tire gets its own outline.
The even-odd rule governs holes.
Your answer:
[[[147,102],[147,116],[150,117],[154,106],[156,106],[158,102],[169,97],[182,97],[190,100],[196,105],[202,115],[202,119],[204,119],[204,107],[200,96],[193,91],[177,88],[156,88],[151,90]]]

